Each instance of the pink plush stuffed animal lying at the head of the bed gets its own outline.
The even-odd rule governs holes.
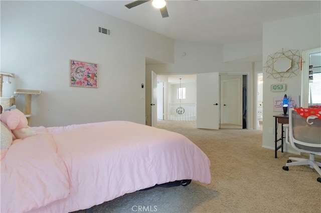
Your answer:
[[[25,114],[17,109],[16,105],[4,109],[0,119],[12,130],[17,139],[36,134],[36,131],[28,126],[28,120]]]

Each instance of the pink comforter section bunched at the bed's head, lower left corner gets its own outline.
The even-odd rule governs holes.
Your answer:
[[[69,195],[66,165],[45,127],[16,139],[1,159],[1,212],[25,212]]]

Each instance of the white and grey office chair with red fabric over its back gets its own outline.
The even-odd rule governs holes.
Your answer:
[[[309,159],[289,157],[285,166],[282,167],[283,170],[288,171],[288,166],[292,165],[310,165],[321,176],[321,162],[314,159],[315,154],[321,155],[321,108],[312,110],[312,108],[298,108],[299,114],[294,108],[289,109],[289,124],[285,127],[285,141],[294,149],[309,153]],[[319,114],[319,116],[313,114]],[[321,183],[321,177],[316,180]]]

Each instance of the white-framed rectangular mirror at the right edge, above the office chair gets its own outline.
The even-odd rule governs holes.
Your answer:
[[[303,51],[301,106],[321,105],[321,47]]]

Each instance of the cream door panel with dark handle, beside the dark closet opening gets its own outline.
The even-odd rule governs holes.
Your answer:
[[[220,128],[243,128],[243,75],[221,75]]]

